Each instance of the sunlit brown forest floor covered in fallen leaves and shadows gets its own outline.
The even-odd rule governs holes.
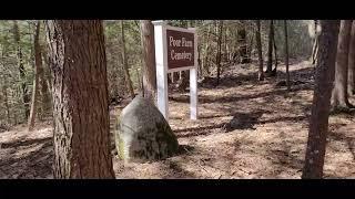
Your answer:
[[[170,124],[184,153],[165,160],[124,165],[116,178],[301,178],[313,96],[314,69],[291,62],[296,82],[287,94],[284,65],[277,77],[257,81],[257,66],[237,65],[201,83],[199,119],[190,119],[189,93],[170,93]],[[355,102],[351,98],[351,102]],[[112,108],[111,115],[119,113]],[[329,118],[325,178],[355,178],[354,115]],[[40,124],[0,133],[0,178],[52,178],[52,128]]]

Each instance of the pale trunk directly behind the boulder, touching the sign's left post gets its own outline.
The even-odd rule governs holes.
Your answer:
[[[150,20],[141,20],[143,49],[143,96],[154,101],[156,94],[154,25]]]

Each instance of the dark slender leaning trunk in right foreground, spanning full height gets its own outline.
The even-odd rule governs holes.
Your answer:
[[[302,178],[322,178],[339,31],[338,20],[321,20],[320,53]]]

